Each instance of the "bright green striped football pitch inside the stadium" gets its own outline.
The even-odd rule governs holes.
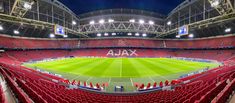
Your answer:
[[[24,64],[33,69],[60,74],[70,80],[108,83],[107,91],[113,91],[114,86],[121,85],[126,87],[126,91],[132,91],[134,83],[178,79],[181,75],[218,65],[170,58],[67,58]]]

